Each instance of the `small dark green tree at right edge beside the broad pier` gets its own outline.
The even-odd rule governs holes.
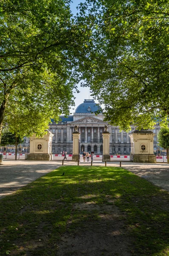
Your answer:
[[[161,127],[158,132],[158,143],[160,147],[166,149],[167,163],[169,163],[169,128]]]

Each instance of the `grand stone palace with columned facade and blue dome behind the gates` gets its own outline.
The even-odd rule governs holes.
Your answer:
[[[102,140],[105,125],[108,125],[108,131],[110,132],[110,143],[129,143],[129,134],[135,130],[135,127],[131,125],[131,131],[129,133],[120,131],[119,126],[112,126],[104,122],[102,113],[96,116],[95,111],[98,109],[100,109],[100,106],[95,103],[94,99],[85,99],[84,102],[76,108],[73,115],[68,117],[60,116],[60,122],[58,123],[51,119],[52,122],[49,124],[49,131],[54,134],[52,152],[59,153],[60,151],[69,151],[69,153],[71,153],[70,151],[72,151],[72,149],[68,148],[68,145],[73,140],[72,134],[75,125],[79,127],[80,132],[80,151],[91,151],[91,142],[95,142],[95,152],[101,153],[103,151],[103,145],[99,144],[99,142]],[[158,148],[157,133],[159,130],[160,126],[155,125],[153,130],[155,133],[154,151]],[[23,146],[28,146],[29,138],[25,137],[24,140]],[[110,147],[110,151],[113,151],[113,148]]]

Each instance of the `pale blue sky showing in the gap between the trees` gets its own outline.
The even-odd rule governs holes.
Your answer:
[[[84,3],[85,0],[72,0],[72,3],[70,5],[70,8],[72,10],[72,13],[75,15],[78,11],[76,9],[76,6],[78,6],[79,3]],[[80,87],[80,84],[78,84],[78,90],[80,90],[80,93],[74,93],[74,96],[76,99],[75,102],[75,109],[78,105],[83,103],[84,99],[93,99],[92,96],[89,95],[89,88],[88,87]],[[98,103],[98,101],[95,101]],[[74,113],[75,109],[71,108],[71,112]]]

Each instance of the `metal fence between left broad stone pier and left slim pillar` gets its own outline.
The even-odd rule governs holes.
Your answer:
[[[72,161],[73,143],[72,142],[52,142],[51,143],[52,160],[65,160]]]

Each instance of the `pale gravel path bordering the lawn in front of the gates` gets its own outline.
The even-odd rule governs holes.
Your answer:
[[[71,161],[64,164],[77,165],[77,163]],[[80,165],[86,166],[90,165],[90,163],[80,163]],[[104,166],[105,164],[93,163],[93,165]],[[59,166],[61,166],[59,161],[4,160],[3,165],[0,165],[0,198],[11,194]],[[119,162],[109,162],[107,166],[119,166]],[[169,165],[166,163],[122,162],[122,167],[169,192]]]

